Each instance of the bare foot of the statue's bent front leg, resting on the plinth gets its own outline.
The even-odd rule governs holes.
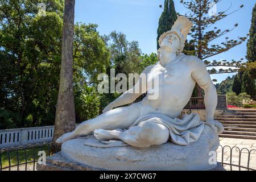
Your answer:
[[[96,137],[98,140],[110,140],[110,139],[117,139],[117,135],[121,133],[120,130],[103,130],[103,129],[97,129],[94,130],[94,137]]]

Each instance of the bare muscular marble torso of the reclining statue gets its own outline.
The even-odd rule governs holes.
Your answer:
[[[142,101],[141,115],[159,113],[171,118],[178,117],[191,98],[195,87],[196,82],[191,76],[192,65],[195,61],[193,56],[180,55],[164,67],[157,63],[146,68],[145,72],[150,73],[148,75],[159,78],[159,96],[151,100],[147,94]],[[148,82],[150,81],[154,82],[149,78]]]

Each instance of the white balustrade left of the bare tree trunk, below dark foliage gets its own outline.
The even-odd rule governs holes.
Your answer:
[[[51,142],[53,138],[53,131],[54,126],[0,130],[0,148]]]

